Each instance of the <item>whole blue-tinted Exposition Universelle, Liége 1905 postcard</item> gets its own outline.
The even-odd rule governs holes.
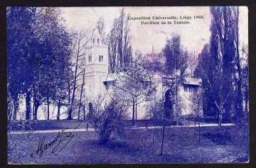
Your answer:
[[[9,164],[250,162],[247,6],[6,20]]]

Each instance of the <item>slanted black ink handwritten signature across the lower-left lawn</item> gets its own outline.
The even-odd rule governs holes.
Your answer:
[[[82,122],[80,122],[79,125],[81,123]],[[50,142],[45,142],[46,136],[43,135],[43,138],[40,138],[39,140],[36,153],[31,153],[31,157],[36,157],[36,155],[39,155],[39,157],[41,157],[44,151],[46,151],[49,147],[52,147],[55,144],[56,145],[55,147],[53,147],[53,150],[51,152],[58,155],[58,153],[62,151],[66,145],[68,145],[68,142],[72,140],[72,138],[74,137],[73,132],[79,127],[79,125],[72,132],[65,132],[65,130],[67,130],[68,128],[61,130],[61,132],[59,131],[55,138]]]

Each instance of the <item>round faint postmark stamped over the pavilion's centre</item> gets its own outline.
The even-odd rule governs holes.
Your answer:
[[[142,65],[124,62],[111,72],[107,79],[112,78],[114,81],[107,93],[114,101],[131,106],[146,99],[150,90],[150,76]]]

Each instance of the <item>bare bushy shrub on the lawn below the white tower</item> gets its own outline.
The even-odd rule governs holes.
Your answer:
[[[107,145],[116,133],[123,132],[123,122],[127,116],[127,106],[115,101],[105,102],[103,96],[97,97],[92,103],[91,112],[87,114],[90,124],[99,137],[100,144],[103,145]]]

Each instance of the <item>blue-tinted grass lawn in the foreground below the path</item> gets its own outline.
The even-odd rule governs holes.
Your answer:
[[[235,126],[201,128],[166,127],[164,154],[161,152],[161,128],[127,129],[110,145],[98,144],[94,131],[74,132],[73,138],[58,155],[52,153],[57,142],[39,157],[31,157],[38,149],[39,139],[54,140],[58,133],[9,133],[9,163],[13,164],[103,164],[103,163],[226,163],[238,160],[247,152],[247,143],[240,145]],[[218,137],[213,138],[214,135]],[[222,135],[229,135],[226,138]],[[222,141],[221,141],[222,140]],[[246,140],[243,140],[243,142]],[[65,141],[64,141],[65,142]]]

